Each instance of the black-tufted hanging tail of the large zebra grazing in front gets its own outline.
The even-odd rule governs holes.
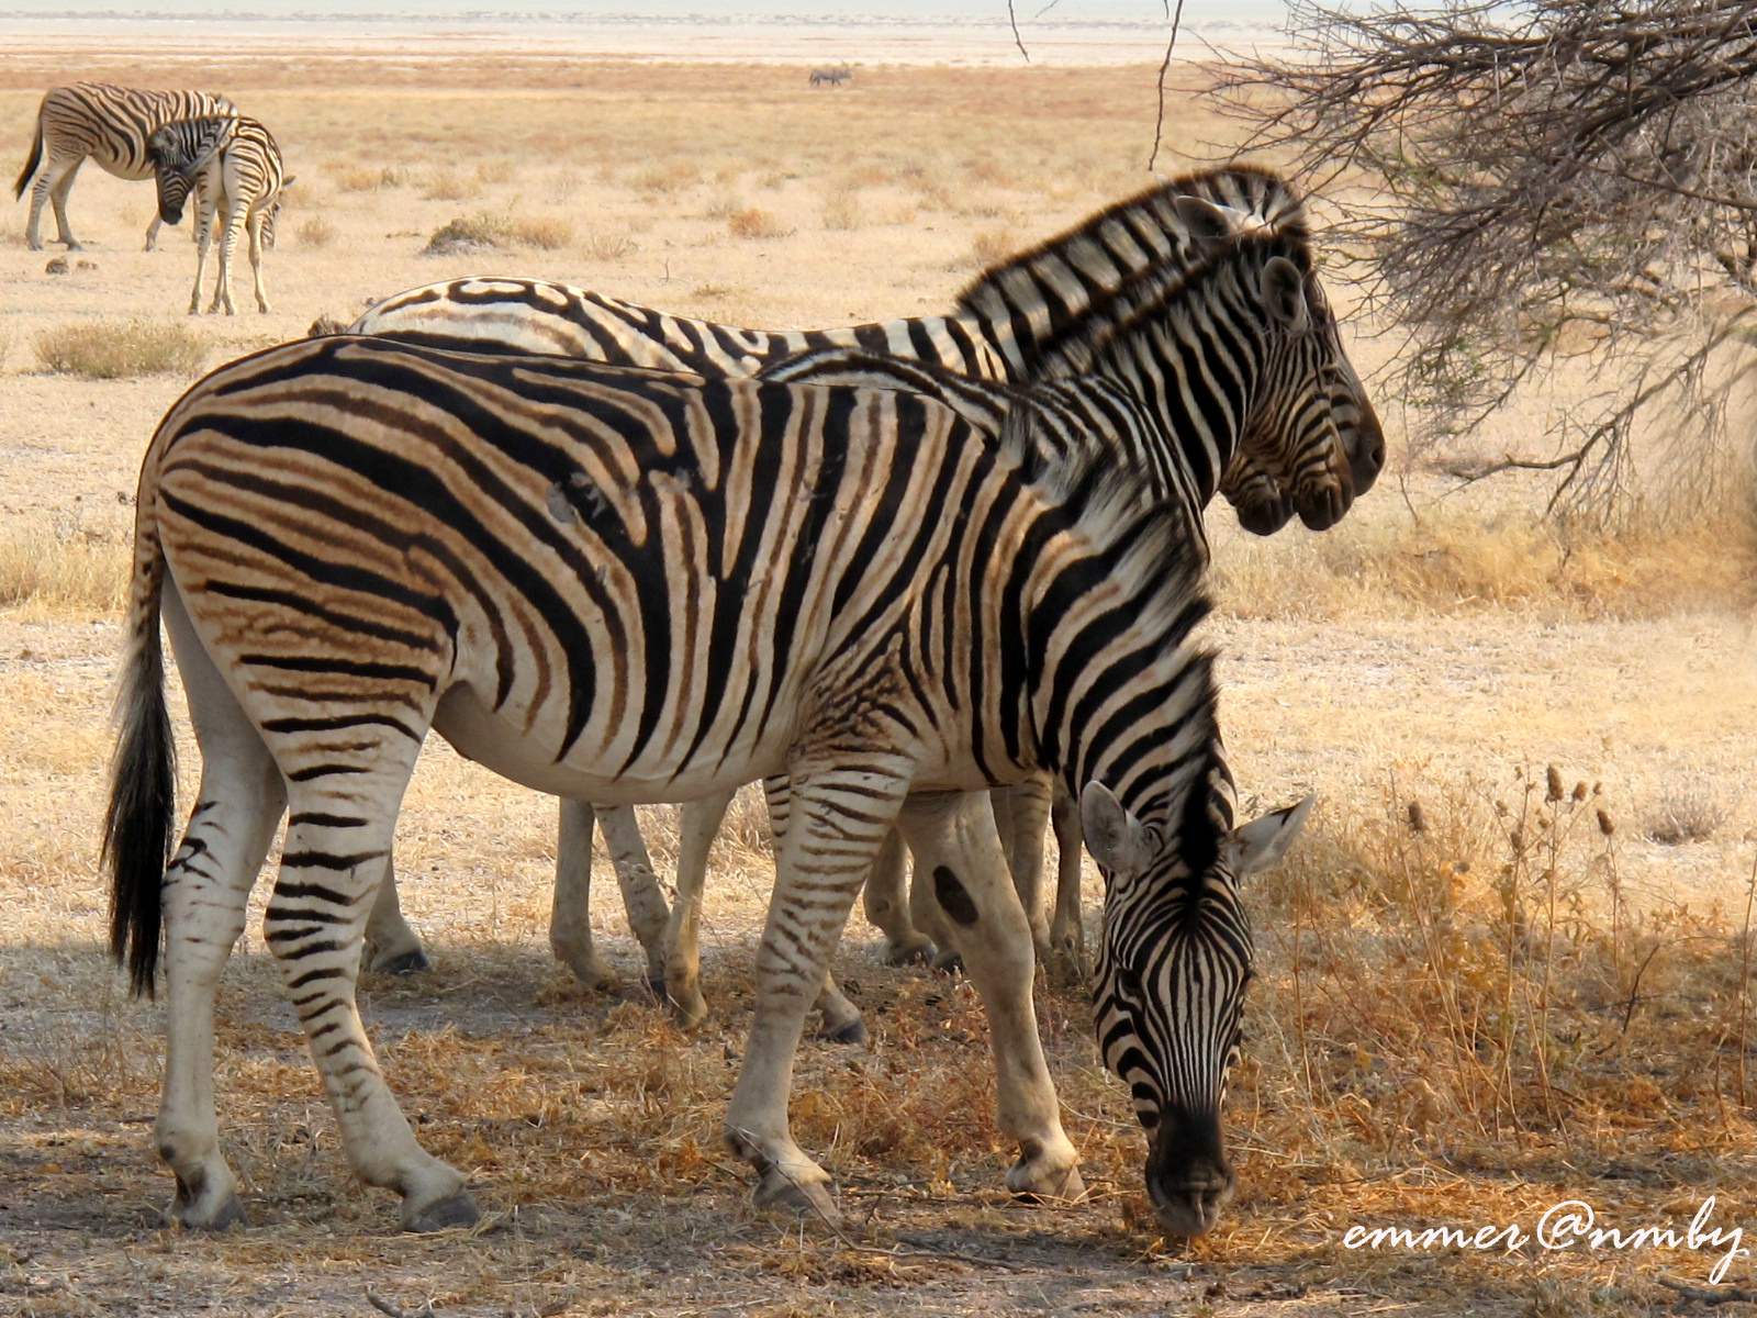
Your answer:
[[[144,482],[142,482],[144,483]],[[116,754],[104,815],[104,865],[111,873],[111,956],[128,967],[135,996],[153,996],[163,937],[165,863],[177,794],[176,740],[165,706],[165,650],[158,634],[165,557],[142,489],[135,568],[128,599],[128,652],[116,692]]]

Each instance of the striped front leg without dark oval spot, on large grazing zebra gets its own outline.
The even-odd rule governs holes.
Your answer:
[[[843,752],[847,756],[847,752]],[[726,1114],[726,1142],[757,1172],[756,1204],[835,1223],[829,1174],[787,1125],[792,1058],[805,1014],[901,803],[896,764],[794,775],[775,858],[775,893],[757,947],[757,1010]]]

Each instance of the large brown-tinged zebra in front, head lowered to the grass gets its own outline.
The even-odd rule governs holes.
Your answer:
[[[1262,367],[1305,343],[1269,251]],[[409,1230],[476,1220],[420,1149],[355,1003],[365,909],[418,749],[550,793],[699,796],[785,771],[791,810],[726,1118],[763,1207],[835,1216],[787,1093],[812,993],[893,822],[991,1021],[1023,1195],[1082,1191],[1031,1005],[1030,928],[980,789],[1054,771],[1107,875],[1103,1056],[1149,1130],[1168,1230],[1232,1186],[1221,1146],[1251,940],[1237,880],[1304,808],[1232,829],[1207,605],[1179,520],[1102,450],[1042,464],[907,390],[669,376],[372,337],[197,383],[141,473],[105,852],[112,949],[165,963],[155,1146],[174,1218],[242,1218],[213,1104],[214,988],[288,812],[264,937],[355,1174]],[[172,840],[160,617],[202,782]],[[162,949],[163,940],[163,949]]]

